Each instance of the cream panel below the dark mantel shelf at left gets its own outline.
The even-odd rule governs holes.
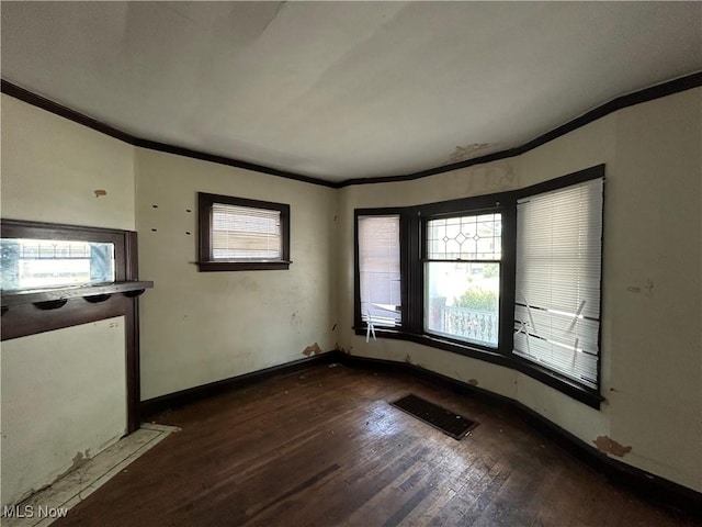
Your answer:
[[[126,433],[124,345],[123,316],[2,343],[2,505]]]

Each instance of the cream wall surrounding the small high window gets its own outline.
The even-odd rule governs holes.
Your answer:
[[[139,273],[156,280],[140,304],[143,399],[335,348],[333,189],[152,150],[136,159]],[[199,272],[199,191],[288,203],[290,269]]]

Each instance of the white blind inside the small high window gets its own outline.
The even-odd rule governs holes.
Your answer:
[[[213,260],[280,260],[281,212],[214,203],[212,205]]]

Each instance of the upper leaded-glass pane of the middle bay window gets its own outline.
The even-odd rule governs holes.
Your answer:
[[[427,257],[432,260],[499,260],[501,214],[479,214],[427,222]]]

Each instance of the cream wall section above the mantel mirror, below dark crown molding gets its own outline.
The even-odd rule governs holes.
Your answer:
[[[131,145],[5,94],[1,104],[2,217],[134,229]]]

